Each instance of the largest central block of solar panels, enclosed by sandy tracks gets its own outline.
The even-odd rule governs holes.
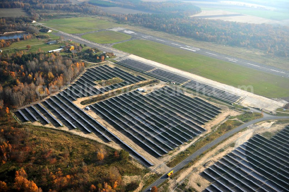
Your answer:
[[[220,108],[170,87],[148,94],[132,91],[90,105],[101,118],[159,157],[205,131]]]

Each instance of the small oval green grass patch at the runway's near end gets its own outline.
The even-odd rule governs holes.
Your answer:
[[[96,43],[115,43],[130,39],[131,36],[115,31],[100,31],[85,34],[82,36],[82,38],[94,41]]]

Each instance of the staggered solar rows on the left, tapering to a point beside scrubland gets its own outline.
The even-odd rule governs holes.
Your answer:
[[[54,126],[65,125],[70,129],[79,128],[86,133],[95,133],[102,137],[105,141],[112,141],[123,145],[136,159],[153,166],[149,160],[139,154],[131,146],[109,131],[105,126],[88,115],[85,111],[77,107],[71,100],[65,96],[64,92],[49,97],[42,103],[37,103],[24,109],[20,109],[15,113],[22,121],[37,121],[42,124],[51,123]]]

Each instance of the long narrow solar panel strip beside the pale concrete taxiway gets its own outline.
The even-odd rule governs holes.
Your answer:
[[[199,83],[192,79],[184,78],[180,75],[176,75],[174,73],[167,72],[165,70],[154,68],[152,66],[149,66],[147,64],[132,59],[125,59],[122,61],[118,61],[116,62],[116,64],[130,68],[138,72],[142,72],[161,81],[169,83],[175,82],[177,84],[181,84],[183,87],[193,90],[194,92],[204,94],[206,96],[210,96],[222,100],[224,102],[234,103],[240,99],[240,96],[225,92],[224,90],[220,90],[212,86]]]

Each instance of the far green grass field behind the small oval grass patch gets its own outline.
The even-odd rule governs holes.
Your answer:
[[[116,23],[112,23],[105,20],[100,20],[92,17],[73,17],[52,19],[47,21],[41,21],[48,27],[57,29],[66,33],[85,33],[89,31],[95,31],[99,29],[107,29],[111,27],[118,27]]]

